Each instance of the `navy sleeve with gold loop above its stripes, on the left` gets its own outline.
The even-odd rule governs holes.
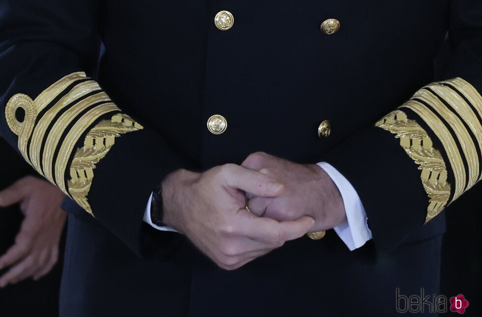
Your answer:
[[[0,134],[131,249],[146,197],[189,162],[94,80],[101,1],[0,1]]]

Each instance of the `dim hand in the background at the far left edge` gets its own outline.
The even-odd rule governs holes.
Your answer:
[[[64,194],[49,182],[26,176],[0,191],[0,208],[20,204],[25,218],[15,243],[0,256],[0,287],[49,273],[59,259],[60,235],[66,213],[60,209]],[[1,210],[0,210],[1,212]]]

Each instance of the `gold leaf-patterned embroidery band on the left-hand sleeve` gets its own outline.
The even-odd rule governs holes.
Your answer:
[[[143,127],[128,115],[114,115],[110,120],[103,120],[87,134],[84,146],[77,149],[70,165],[68,191],[71,197],[91,215],[92,209],[87,195],[94,177],[95,165],[105,157],[115,144],[116,137],[127,132],[141,130]]]

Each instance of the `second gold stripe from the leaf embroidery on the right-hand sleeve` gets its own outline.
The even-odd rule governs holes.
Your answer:
[[[435,87],[431,88],[433,89]],[[432,108],[432,111],[441,115],[455,132],[455,137],[457,138],[458,142],[462,147],[462,151],[466,158],[468,166],[468,171],[466,171],[466,173],[469,174],[469,182],[467,184],[467,188],[472,187],[477,181],[477,177],[479,177],[479,162],[478,160],[471,159],[477,157],[477,150],[464,124],[455,114],[452,113],[452,111],[447,108],[445,104],[440,101],[440,99],[438,99],[431,92],[425,89],[421,89],[415,93],[414,98],[425,101]],[[446,100],[445,98],[444,100],[450,104],[449,100]],[[455,149],[456,147],[454,147],[454,150]],[[463,181],[463,185],[465,185],[465,179]],[[458,192],[459,194],[457,194],[457,197],[463,193],[464,187],[465,186],[461,186],[461,191]]]

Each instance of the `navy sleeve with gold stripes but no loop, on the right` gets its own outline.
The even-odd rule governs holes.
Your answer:
[[[378,255],[481,179],[482,1],[452,0],[449,35],[454,51],[443,81],[322,157],[357,190]]]

